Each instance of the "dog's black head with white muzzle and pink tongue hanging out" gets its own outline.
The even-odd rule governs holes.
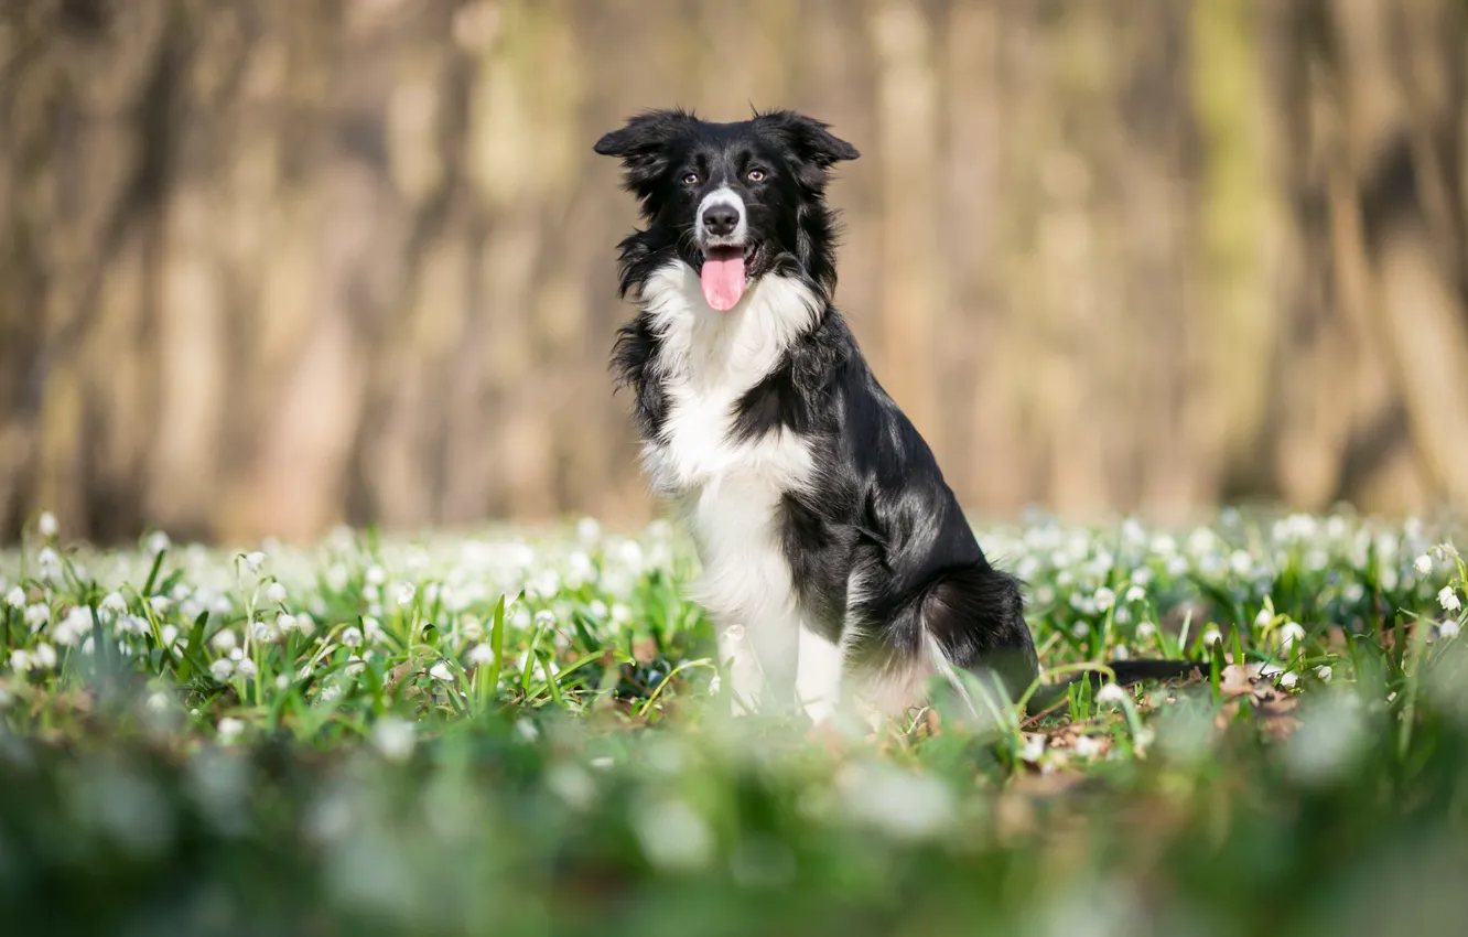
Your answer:
[[[788,110],[712,123],[683,110],[642,113],[595,147],[621,159],[644,232],[642,257],[675,256],[699,272],[703,297],[734,308],[772,272],[829,292],[835,282],[826,173],[856,148],[825,123]]]

